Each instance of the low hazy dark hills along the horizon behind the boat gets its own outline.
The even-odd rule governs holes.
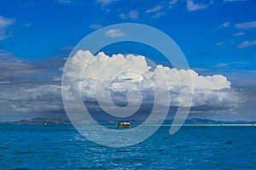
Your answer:
[[[141,122],[137,121],[130,121],[131,124],[140,124]],[[101,124],[113,124],[115,122],[100,122]],[[28,120],[20,120],[16,122],[0,122],[0,124],[10,124],[10,125],[68,125],[71,122],[65,118],[58,118],[58,117],[35,117]],[[84,123],[78,123],[84,124]],[[172,124],[172,120],[165,121],[164,124]],[[204,124],[220,124],[220,125],[228,125],[228,124],[252,124],[256,125],[256,121],[254,122],[246,122],[246,121],[236,121],[236,122],[228,122],[228,121],[214,121],[211,119],[200,119],[200,118],[191,118],[187,119],[184,124],[188,125],[204,125]]]

